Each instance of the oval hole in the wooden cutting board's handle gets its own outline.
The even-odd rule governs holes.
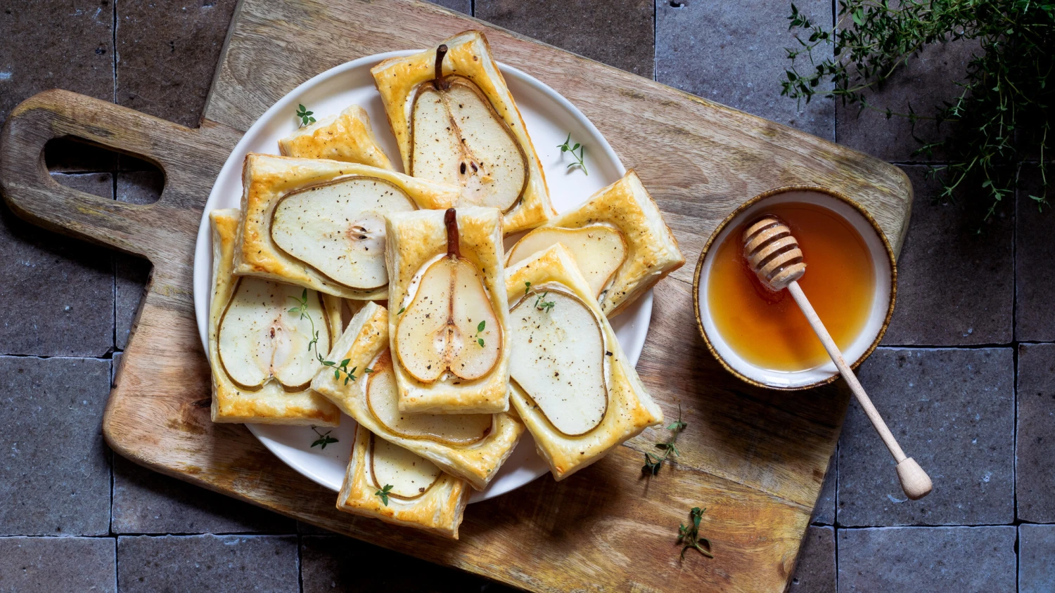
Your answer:
[[[152,204],[165,189],[165,172],[153,162],[72,136],[49,140],[44,163],[58,183],[122,202]]]

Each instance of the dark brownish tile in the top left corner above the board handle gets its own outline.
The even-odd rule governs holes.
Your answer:
[[[0,122],[49,88],[114,100],[114,12],[99,0],[4,2],[0,11]]]

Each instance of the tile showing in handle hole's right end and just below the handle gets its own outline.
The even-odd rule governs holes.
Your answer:
[[[133,171],[117,174],[117,199],[133,204],[157,201],[165,187],[165,175],[159,171]],[[143,289],[150,278],[150,261],[126,254],[114,254],[115,337],[118,349],[128,348],[129,335]]]

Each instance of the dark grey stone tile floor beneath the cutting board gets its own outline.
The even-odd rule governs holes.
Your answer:
[[[235,3],[4,2],[0,121],[57,86],[195,125]],[[903,166],[916,201],[898,307],[861,377],[937,489],[905,500],[851,404],[791,590],[1055,590],[1055,214],[1025,199],[1033,172],[978,234],[978,212],[934,201],[903,122],[781,98],[786,0],[441,3]],[[828,0],[799,6],[833,14]],[[972,50],[926,52],[878,99],[944,98]],[[131,202],[161,182],[69,142],[46,162],[60,183]],[[0,591],[505,590],[113,455],[100,417],[148,266],[0,206]]]

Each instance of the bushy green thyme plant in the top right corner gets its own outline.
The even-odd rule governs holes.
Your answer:
[[[789,29],[798,29],[799,46],[788,48],[791,66],[782,95],[806,102],[821,95],[907,118],[920,142],[914,156],[932,160],[940,153],[948,164],[933,165],[940,179],[939,198],[954,199],[958,187],[977,187],[990,198],[986,218],[1012,195],[1021,164],[1037,160],[1040,189],[1031,195],[1038,209],[1048,205],[1048,138],[1055,85],[1048,85],[1055,52],[1055,2],[1046,0],[840,0],[833,31],[810,21],[791,5]],[[977,40],[957,97],[935,106],[934,116],[909,106],[899,113],[872,104],[868,93],[927,45]],[[832,57],[818,59],[814,50],[832,45]],[[808,65],[806,65],[808,63]],[[829,80],[835,88],[824,90]],[[1055,82],[1055,80],[1053,80]],[[916,122],[936,120],[943,136],[926,142],[916,136]]]

